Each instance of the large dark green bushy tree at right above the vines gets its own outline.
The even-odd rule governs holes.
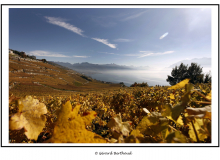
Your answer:
[[[208,76],[209,78],[210,76]],[[171,76],[168,75],[166,79],[170,85],[175,85],[182,80],[189,78],[190,83],[203,83],[204,82],[204,74],[202,74],[202,67],[197,63],[191,63],[191,66],[184,65],[183,63],[180,66],[175,66],[171,72]],[[207,78],[207,79],[208,79]],[[208,81],[208,80],[206,80]],[[205,82],[207,83],[207,82]]]

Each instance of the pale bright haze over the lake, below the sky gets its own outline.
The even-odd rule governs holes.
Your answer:
[[[164,66],[125,66],[117,64],[92,64],[88,62],[83,63],[68,63],[68,62],[55,62],[61,66],[76,70],[90,76],[93,79],[120,83],[124,82],[126,86],[130,86],[134,82],[142,83],[147,82],[149,86],[161,85],[166,86],[169,83],[166,81],[167,76],[171,75],[172,69],[179,66],[181,63],[184,65],[191,65],[197,63],[203,67],[203,73],[206,74],[211,71],[211,58],[195,58],[191,60],[182,60],[178,62],[170,62],[167,67]],[[54,62],[53,62],[54,63]]]

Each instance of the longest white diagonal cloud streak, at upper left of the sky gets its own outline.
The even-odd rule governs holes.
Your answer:
[[[47,19],[48,23],[63,27],[65,29],[68,29],[68,30],[76,33],[76,34],[79,34],[79,35],[85,37],[85,35],[83,35],[83,32],[84,32],[83,30],[81,30],[80,28],[75,27],[72,24],[66,23],[65,19],[56,18],[56,17],[47,17],[47,16],[45,16],[45,18]]]

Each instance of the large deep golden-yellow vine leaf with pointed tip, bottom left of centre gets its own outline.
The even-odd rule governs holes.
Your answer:
[[[94,116],[94,112],[85,117],[81,117],[78,112],[80,105],[72,109],[70,101],[62,105],[57,117],[52,138],[48,142],[52,143],[106,143],[100,135],[86,130],[86,124]]]

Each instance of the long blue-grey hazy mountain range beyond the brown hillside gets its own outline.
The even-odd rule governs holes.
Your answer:
[[[117,64],[92,64],[88,62],[82,62],[82,63],[68,63],[68,62],[53,62],[58,65],[70,68],[72,70],[76,70],[78,72],[84,72],[84,73],[100,73],[103,71],[112,71],[112,70],[146,70],[149,69],[148,66],[144,67],[135,67],[135,66],[125,66],[125,65],[117,65]]]

